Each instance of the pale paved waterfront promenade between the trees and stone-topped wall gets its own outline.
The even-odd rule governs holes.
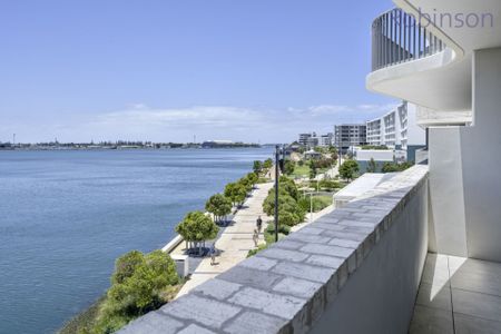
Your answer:
[[[217,265],[210,265],[210,257],[204,257],[198,262],[198,266],[191,273],[191,277],[179,291],[177,297],[188,293],[194,287],[205,281],[226,272],[247,257],[249,249],[254,249],[253,233],[256,228],[256,219],[261,215],[263,218],[263,230],[266,228],[266,222],[272,218],[263,213],[263,202],[268,195],[273,183],[258,184],[253,190],[250,197],[244,204],[244,207],[233,217],[232,223],[225,227],[215,242],[216,249],[220,252],[216,257]],[[263,243],[263,235],[259,236],[259,243]],[[181,243],[184,247],[185,243]],[[176,249],[179,252],[179,249]],[[175,250],[175,252],[176,252]],[[191,262],[194,258],[189,258]]]

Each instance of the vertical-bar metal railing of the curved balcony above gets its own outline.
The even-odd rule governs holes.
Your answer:
[[[445,43],[414,16],[393,9],[372,23],[372,70],[435,55]]]

